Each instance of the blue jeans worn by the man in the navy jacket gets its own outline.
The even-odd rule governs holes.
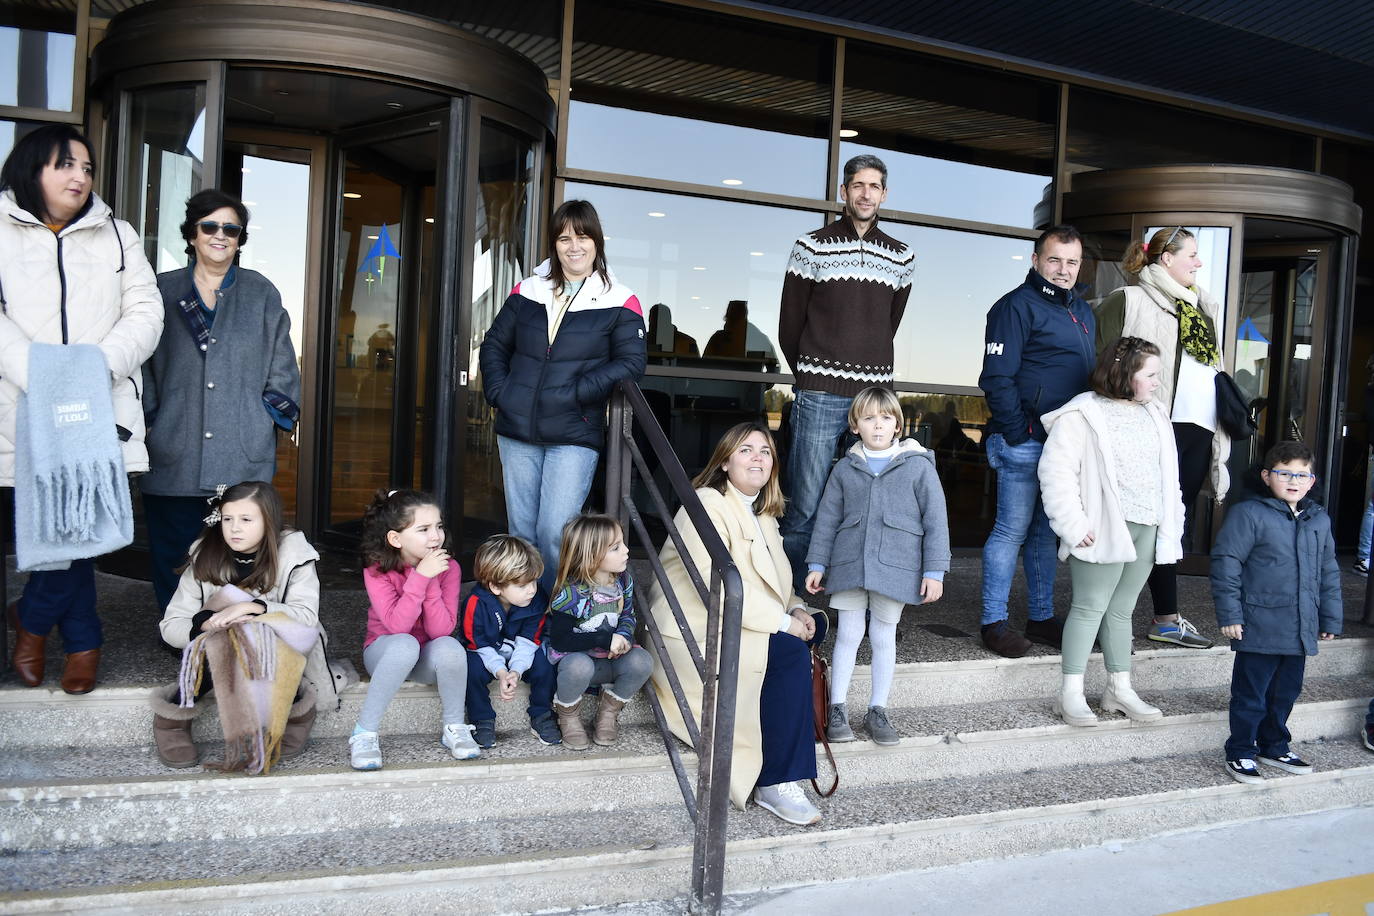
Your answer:
[[[988,464],[998,472],[998,520],[982,547],[982,623],[1007,619],[1007,596],[1017,573],[1017,553],[1025,545],[1024,567],[1029,617],[1054,617],[1054,566],[1058,560],[1054,531],[1040,503],[1040,452],[1044,445],[1026,439],[1007,445],[1000,433],[988,437]]]

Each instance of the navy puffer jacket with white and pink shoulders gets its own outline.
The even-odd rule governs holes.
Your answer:
[[[614,277],[606,286],[594,273],[550,345],[552,304],[545,261],[511,290],[482,339],[482,390],[499,435],[599,450],[611,389],[644,375],[644,313]]]

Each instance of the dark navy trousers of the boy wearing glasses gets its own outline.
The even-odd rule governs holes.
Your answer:
[[[1283,757],[1292,735],[1287,717],[1303,692],[1307,655],[1237,652],[1231,669],[1231,737],[1226,759]]]

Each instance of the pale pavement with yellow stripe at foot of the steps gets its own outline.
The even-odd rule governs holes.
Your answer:
[[[1371,836],[1374,808],[1349,808],[882,879],[742,894],[730,897],[723,912],[1157,916],[1234,902],[1217,911],[1353,916],[1374,913]],[[856,908],[856,901],[863,902]],[[684,900],[673,900],[577,912],[669,916],[684,908]]]

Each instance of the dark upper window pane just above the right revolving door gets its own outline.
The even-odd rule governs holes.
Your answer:
[[[1079,88],[1069,91],[1068,132],[1070,172],[1187,162],[1311,169],[1314,158],[1308,136]]]

